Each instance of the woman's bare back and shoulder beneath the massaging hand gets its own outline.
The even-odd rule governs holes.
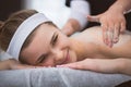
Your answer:
[[[75,36],[84,45],[87,55],[93,58],[131,58],[131,33],[120,35],[112,48],[103,41],[103,29],[99,26],[85,29]],[[94,53],[94,54],[93,54]]]

